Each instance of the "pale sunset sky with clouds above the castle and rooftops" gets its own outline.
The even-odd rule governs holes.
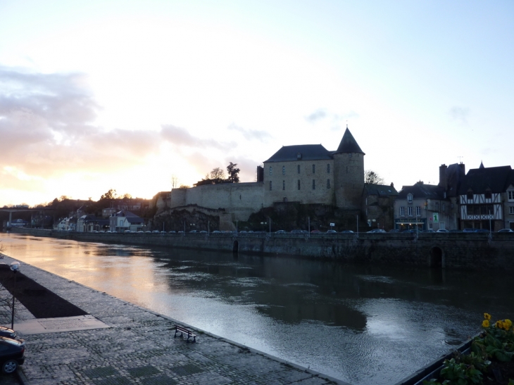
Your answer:
[[[0,206],[151,198],[346,125],[396,189],[512,165],[514,1],[0,0]]]

